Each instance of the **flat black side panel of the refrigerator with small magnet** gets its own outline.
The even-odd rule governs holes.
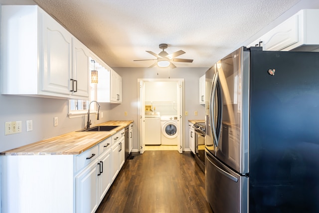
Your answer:
[[[249,210],[318,213],[319,52],[251,51],[250,76]]]

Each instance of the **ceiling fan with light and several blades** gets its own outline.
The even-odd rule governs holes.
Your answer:
[[[185,52],[183,50],[179,50],[177,52],[173,52],[171,54],[168,54],[167,52],[164,51],[164,49],[167,48],[167,44],[161,43],[159,46],[160,46],[160,49],[162,49],[162,51],[159,54],[156,54],[152,51],[147,51],[148,53],[157,57],[157,59],[142,59],[142,60],[134,60],[134,61],[157,60],[154,64],[149,66],[149,68],[158,65],[159,67],[168,67],[169,66],[171,69],[176,68],[176,66],[172,62],[187,62],[187,63],[193,62],[193,59],[175,58],[181,54],[184,54]]]

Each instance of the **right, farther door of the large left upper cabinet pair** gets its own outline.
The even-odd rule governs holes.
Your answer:
[[[89,97],[89,56],[87,47],[76,38],[72,38],[72,50],[72,79],[75,87],[72,94]]]

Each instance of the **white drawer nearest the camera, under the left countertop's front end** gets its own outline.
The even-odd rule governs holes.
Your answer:
[[[94,159],[99,155],[99,147],[94,146],[91,149],[85,151],[84,153],[75,156],[75,172],[89,165]]]

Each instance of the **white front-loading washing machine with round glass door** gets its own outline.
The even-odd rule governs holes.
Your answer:
[[[161,145],[177,145],[177,116],[160,116],[161,124]]]

